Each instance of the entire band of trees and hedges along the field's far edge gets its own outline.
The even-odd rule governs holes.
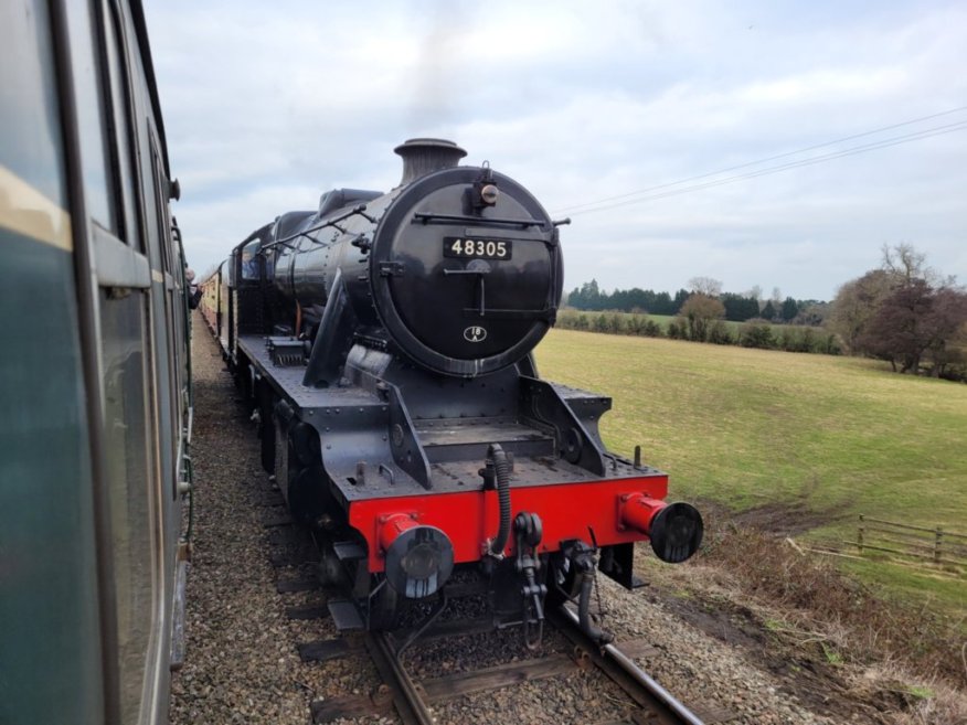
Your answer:
[[[723,292],[722,282],[694,277],[674,296],[650,289],[602,291],[592,279],[575,288],[559,327],[612,334],[738,344],[789,352],[864,355],[899,373],[967,383],[967,289],[926,266],[908,244],[883,246],[879,268],[839,288],[831,302],[763,300]],[[630,314],[629,314],[630,313]]]

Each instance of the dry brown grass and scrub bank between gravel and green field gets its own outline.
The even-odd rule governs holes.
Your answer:
[[[783,692],[837,722],[963,725],[957,717],[924,718],[918,694],[943,690],[947,712],[967,706],[955,623],[886,601],[785,542],[836,513],[805,502],[741,513],[709,502],[701,508],[702,552],[684,566],[642,572],[652,584],[647,597],[740,648],[776,675]],[[938,687],[916,684],[923,682]]]

